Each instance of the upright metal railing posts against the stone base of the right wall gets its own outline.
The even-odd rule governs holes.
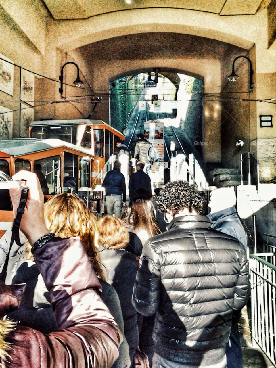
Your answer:
[[[259,190],[259,160],[255,159],[251,152],[241,154],[241,185],[256,185]]]

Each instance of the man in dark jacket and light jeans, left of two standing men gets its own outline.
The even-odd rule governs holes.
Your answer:
[[[120,168],[120,161],[115,161],[113,170],[108,171],[102,184],[106,192],[107,215],[113,215],[114,213],[119,219],[121,218],[122,207],[125,206],[125,201],[127,199],[125,178]]]

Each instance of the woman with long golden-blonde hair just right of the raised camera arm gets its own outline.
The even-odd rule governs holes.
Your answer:
[[[98,251],[97,220],[84,202],[74,194],[63,193],[54,195],[44,205],[45,224],[47,229],[61,238],[79,237],[86,250],[88,259],[97,273],[103,292],[102,300],[106,303],[115,321],[124,335],[123,315],[120,300],[116,289],[105,282],[106,277],[100,261]],[[112,368],[125,368],[130,366],[129,348],[124,337],[119,348],[120,355]]]

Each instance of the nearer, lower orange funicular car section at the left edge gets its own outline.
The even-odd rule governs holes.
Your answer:
[[[45,199],[91,187],[93,160],[86,149],[60,139],[0,141],[1,177],[11,177],[20,170],[35,172]],[[11,228],[12,221],[12,211],[0,210],[0,237]]]

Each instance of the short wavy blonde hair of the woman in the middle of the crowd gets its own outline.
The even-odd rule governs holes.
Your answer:
[[[118,217],[101,217],[98,220],[98,229],[98,241],[103,248],[122,249],[130,240],[127,229]]]

